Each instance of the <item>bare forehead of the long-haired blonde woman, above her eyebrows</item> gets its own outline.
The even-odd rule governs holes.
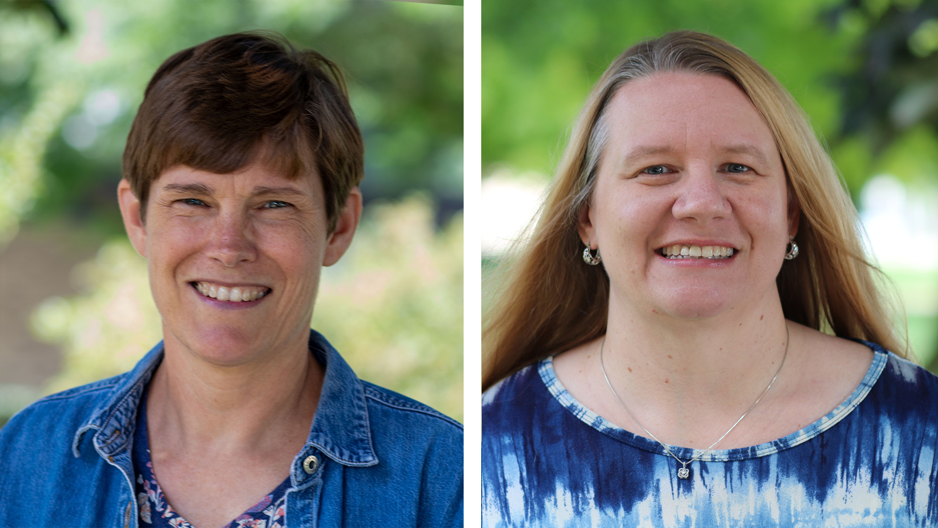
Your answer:
[[[778,151],[749,97],[718,75],[668,72],[631,81],[613,95],[607,118],[613,148],[749,145]]]

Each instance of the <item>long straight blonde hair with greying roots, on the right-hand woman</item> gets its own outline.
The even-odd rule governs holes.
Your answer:
[[[785,318],[904,356],[873,279],[879,271],[864,256],[854,204],[808,117],[748,54],[710,35],[675,31],[628,48],[590,93],[530,239],[497,271],[502,280],[482,333],[482,389],[606,332],[609,277],[601,266],[582,262],[577,220],[596,182],[613,94],[628,81],[663,71],[734,81],[775,136],[790,194],[801,209],[795,236],[801,256],[786,260],[776,279]]]

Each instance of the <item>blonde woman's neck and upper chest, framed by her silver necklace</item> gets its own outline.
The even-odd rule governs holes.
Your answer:
[[[662,442],[708,446],[779,373],[788,335],[774,289],[715,318],[678,319],[632,306],[613,295],[607,334],[597,347],[618,396]],[[605,380],[599,383],[608,393]]]

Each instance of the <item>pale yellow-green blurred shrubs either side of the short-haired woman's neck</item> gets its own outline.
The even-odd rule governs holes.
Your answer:
[[[45,394],[126,372],[162,338],[146,260],[126,237],[75,275],[83,293],[33,314],[34,333],[63,351]],[[312,327],[363,380],[461,420],[461,215],[436,229],[422,194],[366,210],[348,253],[323,272]]]

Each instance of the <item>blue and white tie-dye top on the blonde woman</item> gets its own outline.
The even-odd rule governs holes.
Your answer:
[[[570,396],[550,358],[528,366],[482,398],[482,525],[938,526],[938,378],[863,343],[872,365],[840,406],[712,451],[688,479],[661,445]]]

